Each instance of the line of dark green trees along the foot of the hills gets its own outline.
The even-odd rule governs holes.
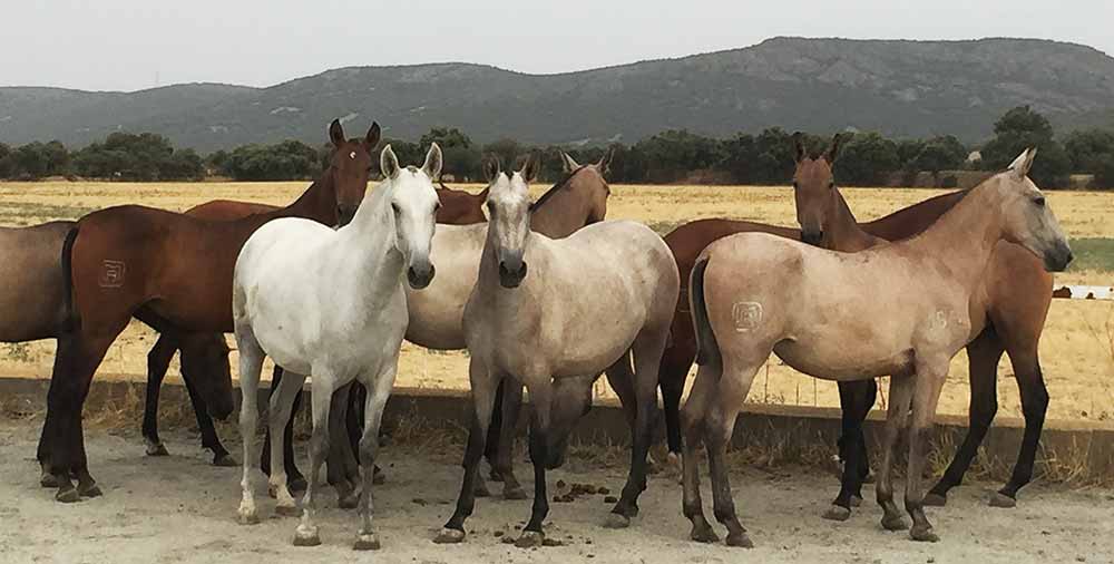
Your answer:
[[[994,136],[978,147],[954,136],[927,139],[891,139],[873,132],[841,134],[837,175],[841,184],[877,186],[895,173],[1005,168],[1025,147],[1038,148],[1034,181],[1045,187],[1068,184],[1071,174],[1093,174],[1095,185],[1114,188],[1114,130],[1084,129],[1057,136],[1049,121],[1027,106],[1013,108],[994,126]],[[807,134],[807,146],[822,152],[830,136]],[[504,166],[532,149],[545,152],[541,175],[561,174],[557,149],[578,162],[598,159],[613,149],[610,179],[616,183],[667,184],[678,182],[723,184],[784,184],[792,173],[793,143],[790,132],[771,127],[758,134],[739,133],[727,138],[705,137],[685,129],[671,129],[633,145],[535,147],[515,139],[477,144],[457,128],[434,127],[418,140],[388,139],[399,159],[420,162],[424,148],[437,142],[444,152],[444,173],[458,182],[482,177],[483,155],[499,156]],[[160,135],[114,133],[105,140],[70,152],[61,143],[29,143],[19,147],[0,144],[0,178],[38,179],[78,176],[119,181],[194,181],[224,176],[237,181],[287,181],[316,177],[328,163],[331,146],[311,146],[297,140],[272,145],[243,145],[217,150],[206,157],[193,149],[175,148]],[[981,158],[969,159],[977,149]],[[947,178],[940,184],[947,186]]]

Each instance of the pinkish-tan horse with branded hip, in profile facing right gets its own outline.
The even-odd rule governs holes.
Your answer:
[[[882,465],[876,487],[882,526],[903,529],[893,503],[892,458],[912,412],[906,510],[915,541],[937,541],[924,510],[925,439],[952,357],[977,334],[973,312],[986,264],[1000,241],[1024,246],[1062,271],[1072,252],[1040,191],[1026,176],[1036,155],[984,182],[931,227],[909,240],[838,253],[765,233],[709,245],[690,286],[696,372],[682,414],[684,515],[692,537],[716,538],[704,518],[695,448],[707,447],[716,519],[727,544],[750,546],[735,515],[726,445],[754,375],[776,353],[801,372],[833,380],[891,376]],[[742,273],[743,275],[740,275]]]

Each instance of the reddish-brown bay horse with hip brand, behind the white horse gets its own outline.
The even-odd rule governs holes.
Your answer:
[[[344,139],[339,121],[331,165],[296,202],[234,222],[208,222],[143,206],[94,212],[78,222],[71,252],[78,329],[58,343],[47,397],[40,461],[56,476],[59,500],[95,492],[88,476],[81,406],[108,347],[135,315],[159,332],[232,331],[232,273],[236,253],[261,225],[306,217],[326,225],[351,217],[363,198],[379,126]],[[46,446],[47,448],[41,448]],[[79,476],[75,489],[67,469]]]

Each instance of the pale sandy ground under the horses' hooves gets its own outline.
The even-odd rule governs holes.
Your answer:
[[[238,469],[206,464],[192,432],[166,432],[164,440],[176,456],[150,458],[133,434],[87,430],[92,471],[106,495],[61,505],[52,490],[38,487],[38,430],[37,420],[0,420],[0,496],[6,500],[0,507],[0,562],[1114,562],[1111,490],[1067,492],[1035,484],[1024,490],[1017,508],[994,509],[985,504],[988,485],[962,486],[947,508],[930,509],[942,541],[924,545],[906,534],[882,532],[872,502],[846,523],[821,519],[834,479],[797,468],[736,468],[735,499],[758,545],[752,551],[688,542],[680,486],[665,475],[652,477],[642,516],[626,531],[603,529],[609,506],[589,496],[553,504],[547,536],[564,546],[524,551],[496,534],[515,536],[515,527],[529,515],[529,502],[491,498],[478,502],[465,544],[440,546],[431,538],[452,510],[460,447],[416,453],[405,445],[385,448],[381,458],[388,483],[375,489],[380,552],[351,551],[355,515],[334,508],[331,490],[323,496],[326,508],[319,523],[323,545],[297,548],[291,545],[295,519],[274,516],[273,502],[265,497],[262,524],[236,523]],[[551,488],[558,479],[613,490],[622,486],[620,467],[570,466],[550,474]],[[524,466],[520,475],[526,474]],[[530,488],[528,479],[524,485]],[[262,479],[256,490],[265,496]],[[867,490],[867,497],[872,493]],[[705,489],[705,503],[710,500]]]

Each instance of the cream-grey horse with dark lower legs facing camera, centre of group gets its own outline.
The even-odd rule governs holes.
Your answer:
[[[633,222],[596,223],[561,240],[531,232],[527,182],[537,166],[530,158],[511,175],[491,162],[485,167],[490,218],[463,317],[473,421],[457,509],[439,543],[465,538],[496,389],[506,378],[526,386],[532,411],[534,509],[520,546],[543,541],[546,469],[559,463],[558,449],[590,406],[595,375],[605,370],[633,414],[634,431],[631,473],[608,523],[628,524],[646,487],[657,364],[680,288],[676,264],[659,236]],[[594,338],[578,338],[585,334]]]

